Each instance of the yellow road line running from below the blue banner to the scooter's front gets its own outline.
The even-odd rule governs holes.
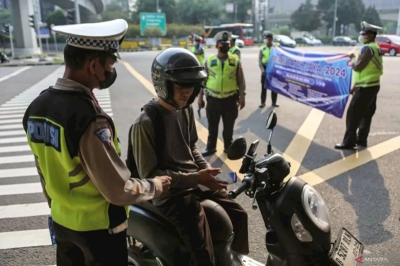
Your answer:
[[[296,135],[287,147],[283,157],[290,162],[290,177],[297,174],[301,163],[307,154],[308,148],[314,139],[325,113],[318,109],[311,109],[306,120],[298,129]]]

